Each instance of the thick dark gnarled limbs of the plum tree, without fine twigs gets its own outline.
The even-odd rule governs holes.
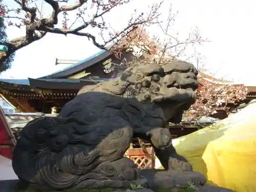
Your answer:
[[[58,24],[58,14],[62,11],[72,11],[79,7],[81,7],[84,3],[87,3],[88,0],[79,0],[76,4],[71,6],[59,6],[57,1],[53,0],[43,0],[46,3],[48,3],[52,9],[53,12],[51,14],[50,18],[42,18],[38,19],[36,18],[36,7],[28,7],[27,0],[13,0],[15,3],[17,3],[23,11],[25,11],[25,14],[28,15],[27,18],[29,20],[26,20],[25,18],[19,17],[19,16],[9,16],[4,15],[4,18],[16,18],[20,19],[25,25],[26,25],[26,36],[15,38],[9,42],[6,43],[6,46],[8,47],[7,52],[0,52],[0,65],[3,65],[3,62],[15,51],[18,49],[21,49],[23,47],[26,47],[27,45],[31,44],[32,42],[39,40],[40,38],[44,37],[47,32],[51,33],[58,33],[58,34],[75,34],[78,31],[85,29],[88,27],[89,23],[84,24],[82,26],[77,27],[74,30],[66,30],[66,29],[58,29],[54,28],[54,25]],[[10,11],[13,11],[14,9],[10,9]],[[15,9],[18,10],[18,9]],[[65,31],[66,30],[66,31]],[[40,33],[36,33],[35,31],[40,31]],[[79,34],[79,33],[78,33]],[[80,34],[81,35],[81,34]],[[90,34],[82,34],[82,36],[88,36],[91,39],[93,39],[94,44],[98,47],[96,43],[95,37]]]

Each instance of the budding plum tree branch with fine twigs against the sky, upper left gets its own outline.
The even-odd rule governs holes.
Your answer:
[[[105,27],[105,22],[103,20],[103,15],[110,12],[113,8],[123,5],[126,3],[129,3],[130,0],[112,0],[112,1],[106,1],[103,3],[103,1],[100,0],[93,0],[92,6],[94,6],[95,13],[89,17],[88,20],[83,18],[83,15],[86,14],[86,10],[92,9],[92,7],[85,7],[81,8],[84,4],[88,3],[88,0],[77,0],[75,4],[73,5],[61,5],[59,4],[59,1],[56,0],[41,0],[42,2],[47,3],[52,7],[52,13],[50,17],[43,17],[40,18],[40,16],[37,16],[37,14],[41,14],[39,11],[37,5],[31,6],[31,4],[28,4],[28,0],[13,0],[19,8],[8,8],[8,11],[12,11],[12,13],[19,14],[20,11],[25,12],[24,18],[20,17],[20,15],[13,16],[8,15],[8,11],[4,14],[4,18],[6,19],[20,19],[23,24],[26,26],[26,36],[15,38],[11,41],[9,41],[6,46],[8,46],[9,50],[7,53],[0,53],[0,65],[3,63],[3,61],[8,58],[13,52],[15,52],[18,49],[21,49],[32,42],[44,37],[47,33],[55,33],[55,34],[74,34],[78,36],[86,36],[89,40],[92,40],[93,44],[100,48],[105,50],[111,50],[109,48],[106,48],[106,45],[110,42],[114,42],[116,44],[120,41],[121,38],[123,38],[125,35],[129,34],[131,31],[136,29],[141,24],[153,24],[153,20],[158,16],[157,10],[159,9],[159,6],[153,6],[150,14],[147,18],[143,18],[143,13],[139,15],[137,18],[131,18],[127,26],[121,30],[120,32],[116,33],[115,35],[110,35],[108,40],[104,40],[103,44],[100,44],[96,41],[96,36],[94,36],[91,33],[84,32],[83,30],[87,27],[97,27],[100,30],[106,30],[108,27]],[[31,3],[31,2],[30,2]],[[67,2],[66,2],[67,3]],[[81,18],[83,21],[82,25],[79,25],[78,27],[72,29],[71,27],[68,28],[66,25],[63,25],[62,28],[57,28],[56,25],[59,24],[58,21],[58,15],[61,12],[64,12],[63,15],[67,15],[67,11],[73,11],[78,9],[78,14],[76,21],[78,18]],[[38,12],[37,12],[38,10]],[[90,12],[90,11],[88,11]],[[102,18],[102,22],[98,22],[96,19]],[[8,24],[9,25],[9,24]],[[10,22],[10,25],[15,26],[16,24],[13,24]],[[17,25],[16,25],[17,26]],[[73,24],[72,24],[73,26]],[[40,34],[38,33],[40,32]],[[38,35],[39,34],[39,35]]]

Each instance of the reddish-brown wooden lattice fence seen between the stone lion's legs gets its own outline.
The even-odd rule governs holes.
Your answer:
[[[141,148],[129,148],[124,156],[133,160],[139,169],[155,168],[154,150],[152,147],[148,147],[146,150],[151,158],[147,158]]]

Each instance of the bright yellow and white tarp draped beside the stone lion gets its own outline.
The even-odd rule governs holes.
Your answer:
[[[256,192],[255,102],[173,144],[208,181],[238,192]]]

